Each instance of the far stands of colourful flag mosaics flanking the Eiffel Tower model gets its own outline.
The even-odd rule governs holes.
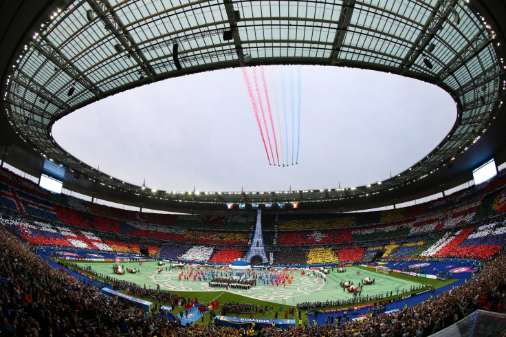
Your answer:
[[[265,215],[265,244],[279,264],[367,261],[377,255],[487,259],[506,245],[505,185],[502,172],[487,184],[408,208]],[[255,223],[253,214],[166,215],[111,208],[43,191],[5,168],[0,168],[0,206],[19,215],[8,227],[33,244],[128,253],[147,246],[152,256],[219,263],[243,257]],[[301,247],[305,254],[293,254]]]

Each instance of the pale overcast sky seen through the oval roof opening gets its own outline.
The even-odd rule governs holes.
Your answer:
[[[288,146],[290,165],[285,167],[270,166],[267,160],[265,147],[271,160],[272,155],[252,68],[248,74],[265,146],[241,69],[183,76],[126,91],[56,122],[52,135],[83,162],[133,184],[141,185],[145,179],[149,188],[287,191],[385,180],[434,149],[456,118],[450,96],[419,80],[340,67],[263,70],[278,145],[276,155],[271,135],[272,153],[276,164],[278,157],[286,164]],[[256,74],[263,94],[260,67]],[[265,95],[262,99],[272,132]],[[298,149],[295,165],[292,149],[294,157]]]

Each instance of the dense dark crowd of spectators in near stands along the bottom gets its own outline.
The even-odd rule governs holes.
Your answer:
[[[0,331],[2,336],[245,336],[246,329],[188,324],[152,318],[100,294],[83,280],[52,268],[19,237],[0,228]],[[130,291],[155,293],[133,284]],[[452,291],[391,314],[340,325],[269,329],[268,336],[428,336],[474,312],[502,311],[506,255]],[[182,301],[176,294],[168,295]]]

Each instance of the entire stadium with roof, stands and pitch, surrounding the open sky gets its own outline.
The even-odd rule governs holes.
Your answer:
[[[2,335],[505,334],[502,1],[0,6]],[[422,80],[450,94],[456,120],[406,171],[303,191],[146,188],[52,136],[56,121],[108,96],[264,65]],[[479,168],[493,173],[478,182]]]

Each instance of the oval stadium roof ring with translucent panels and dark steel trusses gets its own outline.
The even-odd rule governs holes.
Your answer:
[[[358,210],[441,192],[506,161],[506,6],[502,1],[3,1],[0,144],[5,162],[40,175],[65,168],[64,187],[159,210],[299,203],[300,210]],[[312,191],[151,191],[66,153],[54,122],[112,94],[226,67],[360,67],[443,88],[454,127],[408,170],[366,186]],[[274,207],[276,208],[276,207]]]

